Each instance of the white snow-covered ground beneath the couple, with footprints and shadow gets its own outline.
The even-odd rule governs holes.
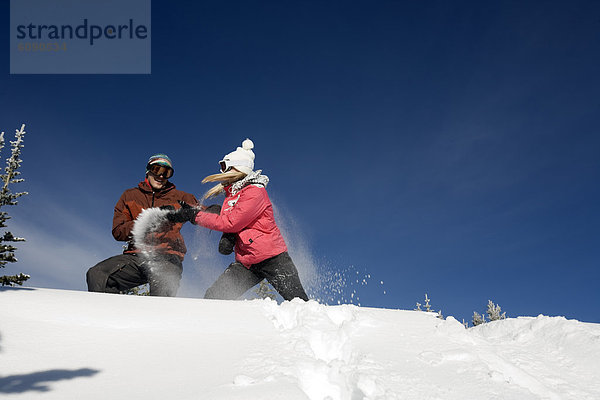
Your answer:
[[[0,289],[7,399],[600,399],[600,325]]]

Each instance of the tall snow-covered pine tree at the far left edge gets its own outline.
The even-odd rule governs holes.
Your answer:
[[[18,171],[21,166],[21,148],[23,147],[23,137],[25,136],[25,124],[21,126],[21,129],[16,130],[14,141],[10,142],[11,156],[6,160],[6,167],[4,168],[4,174],[0,174],[2,179],[2,190],[0,191],[0,208],[3,206],[14,206],[16,205],[17,198],[26,195],[27,192],[12,193],[9,185],[13,183],[23,182],[24,179],[17,178],[21,173]],[[4,132],[0,134],[0,152],[4,148]],[[0,228],[6,228],[6,221],[10,219],[10,216],[6,211],[0,211]],[[17,262],[15,257],[15,250],[17,248],[10,244],[10,242],[24,242],[25,239],[14,236],[11,232],[4,232],[4,235],[0,236],[0,267],[5,268],[9,262]],[[29,275],[19,273],[17,275],[4,275],[0,276],[0,282],[2,286],[13,286],[22,285]]]

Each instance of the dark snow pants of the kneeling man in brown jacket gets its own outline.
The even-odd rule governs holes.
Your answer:
[[[177,256],[147,258],[138,254],[119,254],[99,262],[87,272],[88,291],[124,293],[150,284],[150,296],[175,296],[183,267]]]

